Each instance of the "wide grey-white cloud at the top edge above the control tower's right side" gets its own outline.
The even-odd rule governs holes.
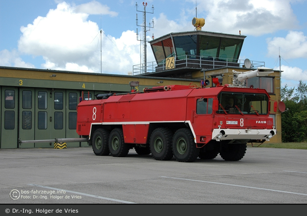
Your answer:
[[[195,2],[191,0],[191,2]],[[281,29],[293,29],[298,21],[291,0],[204,0],[197,1],[204,31],[261,36]]]

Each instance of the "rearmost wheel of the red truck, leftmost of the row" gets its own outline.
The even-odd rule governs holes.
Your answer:
[[[109,146],[108,146],[108,139],[109,139],[110,132],[108,130],[98,128],[95,130],[93,134],[92,140],[92,147],[93,151],[96,155],[109,155]]]

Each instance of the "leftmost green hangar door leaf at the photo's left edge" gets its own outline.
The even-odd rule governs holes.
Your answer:
[[[18,147],[18,89],[1,87],[0,148]]]

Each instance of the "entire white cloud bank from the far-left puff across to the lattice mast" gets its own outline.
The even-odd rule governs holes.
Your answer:
[[[87,6],[90,4],[100,3],[90,2]],[[88,14],[76,11],[82,10],[62,2],[46,17],[22,26],[19,51],[43,56],[45,63],[41,66],[54,70],[101,72],[101,62],[102,73],[127,74],[132,65],[139,64],[135,32],[123,32],[120,38],[106,36],[100,33],[96,23],[87,20]]]

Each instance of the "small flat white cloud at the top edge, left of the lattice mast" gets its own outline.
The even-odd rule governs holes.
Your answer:
[[[107,5],[102,5],[95,0],[89,3],[78,5],[76,7],[76,13],[102,14],[110,15],[111,17],[116,17],[118,15],[117,12],[110,11],[110,8]]]

